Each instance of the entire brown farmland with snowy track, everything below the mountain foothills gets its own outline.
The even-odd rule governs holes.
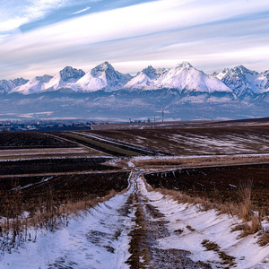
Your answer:
[[[103,127],[0,134],[0,265],[29,242],[37,268],[266,264],[264,121]]]

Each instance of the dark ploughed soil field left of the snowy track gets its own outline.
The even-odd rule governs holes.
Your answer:
[[[1,178],[0,216],[41,206],[58,207],[108,195],[128,187],[129,172],[76,174],[50,177]],[[13,185],[13,186],[12,186]],[[16,209],[16,211],[15,211]]]

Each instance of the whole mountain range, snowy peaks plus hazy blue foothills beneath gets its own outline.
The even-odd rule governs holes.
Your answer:
[[[85,73],[66,66],[55,76],[0,81],[0,118],[268,117],[269,70],[243,65],[204,74],[187,62],[174,68],[148,66],[132,76],[108,62]]]

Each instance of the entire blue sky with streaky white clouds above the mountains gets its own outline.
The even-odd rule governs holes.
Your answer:
[[[0,80],[188,61],[269,69],[268,0],[0,0]]]

